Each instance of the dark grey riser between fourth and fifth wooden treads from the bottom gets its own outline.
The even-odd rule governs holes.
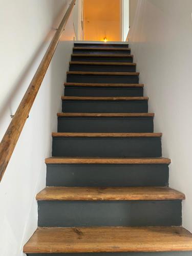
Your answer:
[[[59,133],[153,133],[153,117],[58,117]]]

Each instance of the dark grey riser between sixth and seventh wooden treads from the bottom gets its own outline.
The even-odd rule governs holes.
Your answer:
[[[65,96],[79,97],[143,97],[143,88],[113,88],[113,87],[65,87]]]

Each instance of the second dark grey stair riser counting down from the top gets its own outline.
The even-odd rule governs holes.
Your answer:
[[[131,51],[130,50],[126,50],[126,51],[122,51],[122,50],[87,50],[87,49],[82,49],[82,50],[73,50],[73,53],[82,53],[82,54],[130,54]]]

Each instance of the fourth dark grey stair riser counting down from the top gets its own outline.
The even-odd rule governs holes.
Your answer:
[[[92,71],[92,72],[136,72],[136,66],[130,65],[72,65],[70,64],[69,71]]]

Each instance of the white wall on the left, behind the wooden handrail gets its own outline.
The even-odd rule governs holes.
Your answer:
[[[0,138],[14,114],[70,0],[0,1]],[[36,193],[45,187],[51,132],[73,46],[73,16],[59,42],[6,173],[0,183],[0,255],[23,255],[37,226]]]

